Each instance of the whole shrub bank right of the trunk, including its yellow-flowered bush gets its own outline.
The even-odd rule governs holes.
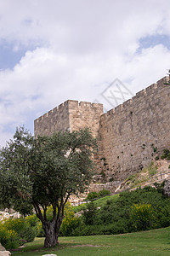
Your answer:
[[[120,234],[169,226],[170,200],[162,195],[162,186],[163,184],[157,186],[157,189],[145,187],[131,192],[124,191],[114,200],[107,200],[100,209],[92,211],[92,214],[88,215],[87,211],[87,221],[73,230],[72,236]]]

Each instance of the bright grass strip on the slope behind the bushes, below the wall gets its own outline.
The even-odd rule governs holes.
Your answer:
[[[119,194],[106,195],[105,197],[102,197],[102,198],[99,198],[98,200],[95,200],[94,204],[95,204],[96,207],[103,207],[103,205],[105,204],[105,202],[107,200],[111,199],[111,200],[116,201],[118,197],[119,197]],[[72,207],[72,208],[73,208],[73,211],[76,213],[76,212],[82,211],[82,209],[85,208],[85,207],[86,207],[86,204],[81,204],[80,206]]]

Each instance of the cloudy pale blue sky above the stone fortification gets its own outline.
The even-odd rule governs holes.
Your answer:
[[[68,99],[107,111],[169,68],[168,0],[0,0],[0,146]]]

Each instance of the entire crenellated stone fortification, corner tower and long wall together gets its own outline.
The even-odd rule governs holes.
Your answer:
[[[67,101],[35,120],[35,136],[91,128],[99,141],[98,172],[117,184],[170,148],[170,85],[159,80],[103,114],[103,105]]]

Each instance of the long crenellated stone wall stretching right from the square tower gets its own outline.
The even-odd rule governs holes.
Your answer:
[[[170,148],[170,85],[166,81],[159,80],[101,116],[99,159],[106,159],[105,172],[113,180],[147,166],[155,159],[154,148],[158,152]]]

